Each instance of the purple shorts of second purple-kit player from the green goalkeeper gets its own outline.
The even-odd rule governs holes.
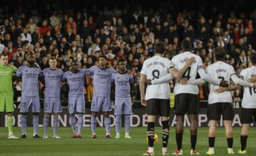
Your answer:
[[[49,97],[47,95],[44,96],[44,112],[52,113],[61,111],[61,97]]]

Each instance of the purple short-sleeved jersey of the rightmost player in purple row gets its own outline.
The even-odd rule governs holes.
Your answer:
[[[115,97],[116,98],[131,98],[131,88],[130,83],[134,82],[132,75],[127,73],[121,74],[115,72],[111,76],[111,82],[115,83]]]

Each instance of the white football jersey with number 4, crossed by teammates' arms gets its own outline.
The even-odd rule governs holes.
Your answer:
[[[172,58],[173,67],[176,70],[181,70],[183,66],[185,66],[185,62],[189,58],[195,58],[195,62],[191,64],[191,66],[187,69],[187,71],[183,74],[183,78],[187,78],[187,80],[195,80],[197,77],[197,70],[203,68],[203,62],[200,56],[192,54],[191,52],[184,52],[182,54],[178,54]],[[174,94],[181,94],[181,93],[189,93],[189,94],[198,94],[198,86],[193,84],[179,84],[176,83],[174,86]]]

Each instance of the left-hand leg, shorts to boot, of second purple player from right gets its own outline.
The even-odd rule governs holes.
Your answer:
[[[91,102],[91,129],[92,129],[92,138],[95,139],[96,135],[96,125],[97,125],[97,114],[100,111],[102,106],[102,101],[97,96],[92,97]]]

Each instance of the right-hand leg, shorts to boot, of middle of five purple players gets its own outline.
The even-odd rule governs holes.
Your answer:
[[[86,102],[84,100],[84,96],[77,97],[77,100],[75,102],[75,112],[77,112],[77,138],[82,138],[82,127],[84,124],[84,113],[86,108]]]

